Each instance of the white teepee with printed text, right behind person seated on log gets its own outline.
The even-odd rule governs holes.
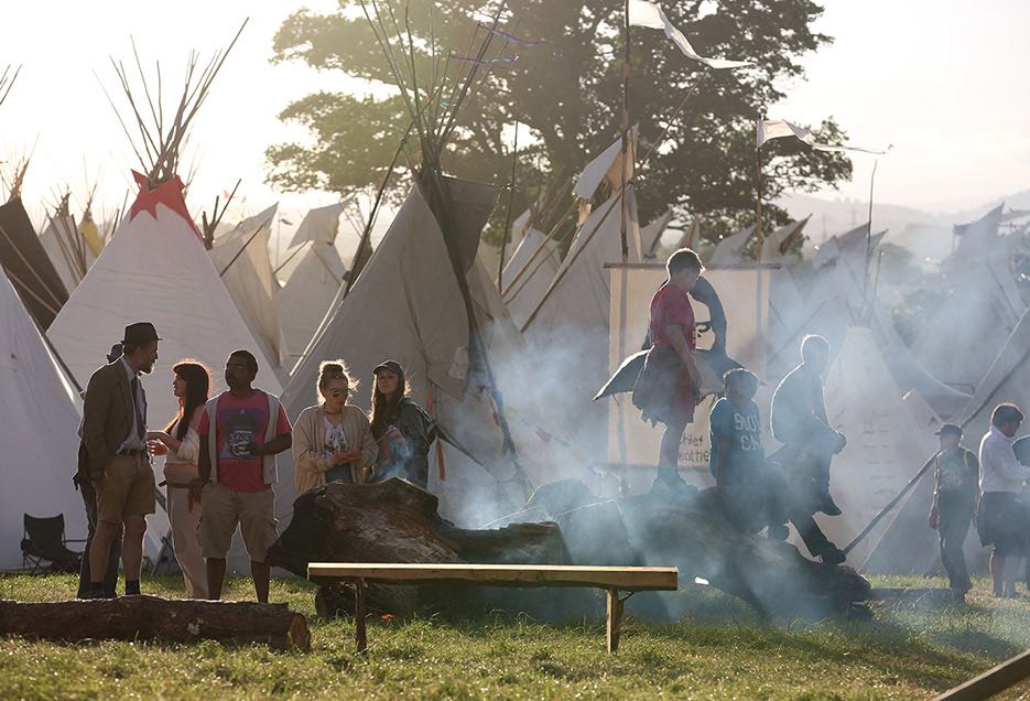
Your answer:
[[[826,374],[825,397],[830,423],[848,443],[834,459],[831,477],[831,490],[844,514],[817,520],[827,537],[843,547],[933,455],[939,423],[932,411],[923,407],[917,416],[911,399],[904,400],[869,328],[848,328]],[[886,528],[886,522],[880,524],[852,551],[849,562],[861,564]]]

